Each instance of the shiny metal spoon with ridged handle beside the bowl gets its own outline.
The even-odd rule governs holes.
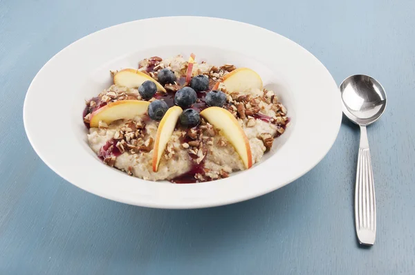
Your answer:
[[[352,75],[340,84],[343,113],[360,126],[360,146],[355,189],[355,222],[359,243],[374,245],[376,238],[376,201],[366,126],[385,111],[386,93],[376,79]]]

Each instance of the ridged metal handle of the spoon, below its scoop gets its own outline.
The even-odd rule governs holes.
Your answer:
[[[355,190],[355,222],[359,243],[373,245],[376,238],[376,201],[366,126],[360,126]]]

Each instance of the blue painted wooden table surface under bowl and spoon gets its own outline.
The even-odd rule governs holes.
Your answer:
[[[413,0],[0,0],[0,274],[414,274],[414,14]],[[98,198],[37,157],[22,107],[46,61],[101,28],[167,15],[268,28],[310,50],[338,84],[356,73],[382,83],[387,110],[368,129],[374,247],[359,247],[355,237],[359,136],[346,122],[306,176],[212,209],[146,209]],[[201,31],[214,39],[222,30]],[[57,90],[56,97],[64,95]]]

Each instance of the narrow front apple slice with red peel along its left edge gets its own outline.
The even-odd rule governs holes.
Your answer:
[[[178,117],[183,112],[182,108],[179,106],[173,106],[169,108],[165,113],[163,119],[158,124],[156,141],[154,142],[154,151],[153,151],[153,171],[157,172],[158,164],[160,164],[161,157],[165,151],[166,144],[169,142],[172,137],[174,128]]]

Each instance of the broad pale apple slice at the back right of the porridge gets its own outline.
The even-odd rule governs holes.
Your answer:
[[[252,88],[262,90],[261,77],[250,68],[237,68],[236,70],[232,70],[228,75],[223,75],[221,82],[225,84],[228,93],[243,93],[250,91]]]

